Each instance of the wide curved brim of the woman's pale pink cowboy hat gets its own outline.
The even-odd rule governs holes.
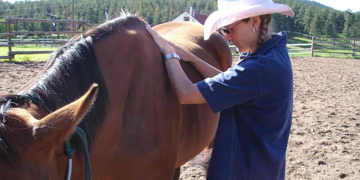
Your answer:
[[[234,6],[230,9],[217,10],[210,14],[204,24],[204,40],[220,27],[257,15],[281,13],[294,16],[292,9],[284,4],[266,3],[251,7]]]

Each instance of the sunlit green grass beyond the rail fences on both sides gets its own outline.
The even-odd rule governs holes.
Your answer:
[[[311,43],[312,37],[307,36],[297,32],[288,32],[288,44],[309,44]],[[338,35],[336,38],[343,38],[342,35]],[[321,41],[326,41],[325,39]],[[336,42],[345,42],[341,40],[337,40]],[[316,46],[321,47],[336,47],[336,48],[351,48],[349,45],[331,45],[331,44],[316,44]],[[51,51],[57,50],[60,46],[54,46],[53,48],[49,46],[15,46],[12,47],[12,51]],[[310,50],[300,50],[300,51],[291,51],[291,49],[305,49],[311,48],[311,45],[306,46],[288,46],[289,53],[306,53],[310,52]],[[335,58],[354,58],[351,55],[346,54],[337,54],[337,53],[327,53],[327,52],[348,52],[351,53],[351,50],[334,50],[334,49],[315,49],[315,51],[324,51],[324,53],[314,53],[316,57],[335,57]],[[356,48],[356,54],[360,55],[360,48]],[[7,47],[0,47],[0,56],[4,56],[8,54]],[[19,54],[15,55],[13,61],[44,61],[50,57],[50,54]],[[292,54],[290,57],[310,57],[310,54]],[[356,59],[360,59],[360,56],[355,57]],[[7,62],[9,59],[0,59],[0,62]]]

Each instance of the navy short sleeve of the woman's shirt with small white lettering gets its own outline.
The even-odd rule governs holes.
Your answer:
[[[240,65],[197,83],[199,91],[214,113],[238,104],[250,105],[259,94],[256,73],[251,66]]]

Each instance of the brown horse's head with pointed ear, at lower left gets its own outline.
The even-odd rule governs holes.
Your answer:
[[[42,110],[35,112],[35,108],[29,105],[10,108],[3,114],[5,118],[1,122],[0,134],[1,179],[63,177],[67,160],[63,155],[64,141],[89,111],[97,89],[98,86],[93,85],[75,102],[42,118],[39,118]],[[58,167],[59,161],[64,161],[61,168]]]

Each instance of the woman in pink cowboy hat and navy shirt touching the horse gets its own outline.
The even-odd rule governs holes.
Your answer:
[[[271,0],[218,0],[204,25],[204,39],[218,28],[241,52],[226,72],[169,45],[147,26],[165,55],[165,66],[181,104],[208,103],[220,113],[207,179],[284,179],[292,118],[293,76],[287,35],[270,35],[271,13],[293,16]],[[173,53],[173,54],[172,54]],[[204,77],[192,84],[179,64],[191,63]]]

